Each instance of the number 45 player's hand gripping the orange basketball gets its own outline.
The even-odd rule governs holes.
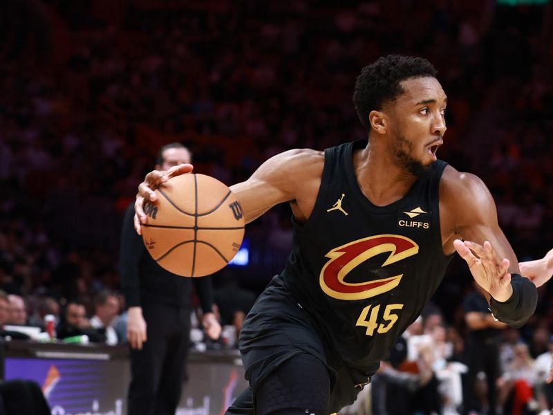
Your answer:
[[[148,217],[144,213],[144,201],[155,202],[157,196],[154,190],[168,181],[169,178],[190,173],[192,169],[194,167],[191,164],[180,164],[168,170],[152,170],[146,175],[144,181],[138,185],[138,193],[134,202],[134,228],[139,235],[142,234],[142,223],[146,223]]]

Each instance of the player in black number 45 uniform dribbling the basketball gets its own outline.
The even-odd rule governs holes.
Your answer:
[[[290,203],[294,243],[245,319],[250,388],[228,414],[330,414],[352,403],[456,251],[495,317],[518,327],[534,313],[536,286],[518,274],[487,187],[436,158],[447,97],[433,66],[382,57],[357,77],[353,101],[368,140],[285,151],[231,187],[246,222]],[[191,169],[146,176],[137,232],[152,189]]]

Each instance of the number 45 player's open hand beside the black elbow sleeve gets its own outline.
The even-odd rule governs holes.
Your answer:
[[[498,302],[506,302],[511,297],[513,294],[511,274],[507,272],[509,259],[498,259],[491,243],[485,241],[483,245],[479,245],[476,242],[456,239],[453,241],[453,246],[462,259],[467,261],[476,283],[491,297]]]

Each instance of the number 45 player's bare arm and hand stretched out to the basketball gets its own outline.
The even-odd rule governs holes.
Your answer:
[[[240,202],[246,223],[250,223],[274,205],[292,202],[298,206],[294,214],[301,219],[309,216],[324,165],[324,154],[311,149],[295,149],[277,154],[265,161],[247,181],[232,185],[230,190]],[[138,234],[147,222],[142,205],[156,202],[156,187],[169,178],[192,171],[191,165],[178,165],[167,171],[153,170],[138,187],[135,200],[134,225]]]

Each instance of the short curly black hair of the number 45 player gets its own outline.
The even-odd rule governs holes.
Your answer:
[[[371,131],[368,114],[379,111],[386,102],[395,100],[404,90],[400,82],[411,77],[436,77],[438,71],[423,57],[388,55],[365,66],[355,82],[353,104],[367,131]]]

